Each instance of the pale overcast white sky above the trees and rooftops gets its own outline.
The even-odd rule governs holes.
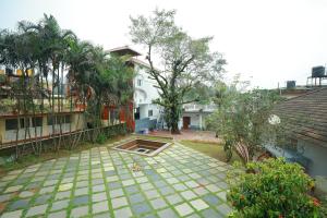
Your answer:
[[[241,73],[253,86],[305,84],[312,66],[327,63],[327,0],[0,0],[0,28],[48,13],[81,39],[110,49],[132,46],[130,15],[156,7],[175,9],[191,36],[214,36],[210,48],[225,55],[229,74]]]

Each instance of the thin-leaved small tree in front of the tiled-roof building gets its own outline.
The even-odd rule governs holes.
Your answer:
[[[225,150],[230,157],[232,148],[243,146],[252,159],[256,149],[271,140],[274,132],[281,126],[268,122],[272,107],[279,100],[280,97],[272,90],[241,93],[235,86],[219,84],[215,99],[218,110],[207,119],[208,128],[225,141]],[[242,158],[247,161],[245,157]]]

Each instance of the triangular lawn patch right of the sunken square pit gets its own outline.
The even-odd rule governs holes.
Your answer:
[[[223,146],[219,143],[213,143],[213,142],[203,142],[203,141],[189,141],[189,140],[182,140],[180,141],[182,145],[185,145],[186,147],[190,147],[192,149],[195,149],[197,152],[201,152],[209,157],[216,158],[220,161],[227,162],[226,154],[223,152]],[[241,161],[238,154],[233,152],[233,156],[229,164],[233,164],[234,161]]]

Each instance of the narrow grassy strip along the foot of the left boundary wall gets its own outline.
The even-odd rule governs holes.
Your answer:
[[[113,138],[109,138],[106,141],[105,144],[110,144],[110,143],[114,143],[117,141],[120,141],[124,137],[129,137],[130,135],[125,135],[125,136],[116,136]],[[97,143],[86,143],[83,142],[81,143],[78,146],[76,146],[74,149],[59,149],[58,152],[53,152],[53,150],[49,150],[46,153],[41,153],[39,156],[38,155],[26,155],[26,156],[22,156],[20,159],[17,159],[16,161],[13,162],[8,162],[5,165],[0,166],[0,177],[4,175],[7,172],[12,171],[12,170],[17,170],[17,169],[22,169],[38,162],[43,162],[46,160],[50,160],[50,159],[55,159],[55,158],[61,158],[61,157],[69,157],[70,155],[74,154],[74,153],[78,153],[82,150],[86,150],[89,149],[92,147],[95,146],[104,146],[104,144],[97,144]]]

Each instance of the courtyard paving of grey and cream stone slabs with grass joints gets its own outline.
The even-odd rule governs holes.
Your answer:
[[[95,147],[1,178],[0,217],[227,217],[228,168],[179,144],[156,157]]]

